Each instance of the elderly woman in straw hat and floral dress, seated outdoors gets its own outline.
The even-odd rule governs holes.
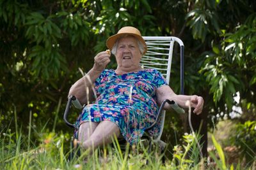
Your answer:
[[[92,69],[72,85],[68,94],[83,104],[96,98],[84,107],[76,122],[79,131],[75,135],[84,149],[110,143],[113,136],[137,143],[156,119],[158,105],[164,99],[176,101],[182,108],[190,101],[194,113],[202,112],[202,97],[177,95],[159,71],[140,67],[147,46],[138,29],[123,27],[108,38],[106,45],[116,57],[116,69],[105,69],[110,62],[107,51],[98,53]],[[89,95],[85,89],[89,89]],[[164,109],[170,106],[166,104]],[[158,127],[154,129],[154,133],[158,131]]]

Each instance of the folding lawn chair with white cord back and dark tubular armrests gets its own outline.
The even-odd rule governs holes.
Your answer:
[[[175,42],[179,43],[180,45],[180,94],[184,94],[184,45],[182,41],[173,36],[143,36],[143,39],[147,43],[147,53],[142,57],[140,65],[144,69],[157,69],[160,71],[164,78],[166,78],[166,82],[170,82],[170,73],[171,73],[171,66],[172,66],[172,56],[173,56],[173,45]],[[70,96],[68,98],[67,107],[64,113],[64,121],[69,127],[75,128],[75,124],[70,124],[67,121],[68,111],[71,107],[71,103],[79,108],[80,110],[83,109],[83,106],[79,103],[75,96]],[[152,143],[157,143],[160,145],[161,148],[166,146],[166,143],[161,141],[161,135],[163,133],[164,128],[164,118],[165,118],[165,111],[163,110],[164,104],[171,104],[173,110],[177,113],[184,113],[184,110],[180,108],[174,101],[170,101],[168,99],[164,100],[159,108],[159,112],[157,113],[156,122],[154,122],[150,127],[145,130],[145,134],[148,134],[148,131],[152,129],[156,124],[161,124],[160,133],[158,136],[148,137],[150,139],[150,148],[149,152],[152,147]]]

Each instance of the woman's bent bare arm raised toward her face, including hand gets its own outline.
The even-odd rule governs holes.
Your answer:
[[[69,96],[76,96],[81,104],[86,104],[88,99],[93,100],[92,85],[96,79],[100,76],[100,73],[105,69],[110,62],[110,55],[108,52],[100,52],[94,57],[94,65],[90,71],[80,78],[72,85],[69,90]],[[89,90],[89,96],[86,96],[86,89]]]

